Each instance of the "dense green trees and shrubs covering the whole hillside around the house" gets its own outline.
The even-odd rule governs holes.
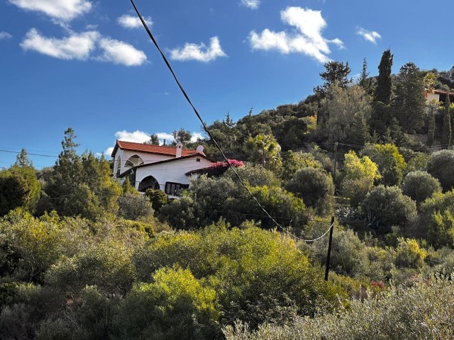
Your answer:
[[[303,101],[216,120],[236,160],[177,200],[113,181],[71,128],[55,166],[22,150],[0,171],[0,339],[453,338],[452,108],[424,99],[453,83],[392,62],[358,84],[328,62]]]

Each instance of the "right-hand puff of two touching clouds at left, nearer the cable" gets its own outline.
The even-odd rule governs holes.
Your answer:
[[[98,59],[104,62],[114,62],[126,66],[138,66],[147,61],[147,56],[133,45],[111,38],[101,38],[99,47],[104,50]]]

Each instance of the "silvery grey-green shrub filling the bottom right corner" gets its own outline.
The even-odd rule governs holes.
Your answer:
[[[297,318],[257,331],[236,323],[223,329],[227,340],[453,339],[454,283],[443,276],[421,278],[411,288],[391,287],[364,301],[353,300],[341,314]]]

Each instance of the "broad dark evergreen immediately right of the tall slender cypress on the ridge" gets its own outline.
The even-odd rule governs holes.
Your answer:
[[[413,62],[407,62],[397,75],[394,100],[394,116],[404,132],[419,130],[424,125],[426,101],[423,91],[423,77],[419,67]]]

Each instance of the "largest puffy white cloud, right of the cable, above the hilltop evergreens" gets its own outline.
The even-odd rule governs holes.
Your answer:
[[[249,33],[249,41],[253,50],[277,50],[286,55],[297,52],[309,55],[318,62],[328,62],[331,53],[328,44],[344,48],[340,39],[328,40],[321,34],[326,21],[320,11],[287,7],[281,11],[281,20],[297,28],[297,33],[273,32],[267,28],[261,33],[252,31]]]

